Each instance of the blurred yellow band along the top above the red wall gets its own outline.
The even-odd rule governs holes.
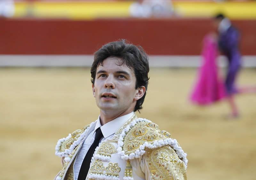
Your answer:
[[[14,17],[28,13],[39,18],[125,18],[130,17],[132,1],[125,2],[28,2],[15,3]],[[183,17],[212,17],[218,12],[230,19],[256,19],[256,2],[174,2],[175,11]]]

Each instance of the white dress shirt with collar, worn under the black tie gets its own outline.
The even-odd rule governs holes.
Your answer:
[[[100,124],[100,116],[98,117],[98,120],[96,122],[96,126],[94,130],[89,134],[89,136],[84,140],[84,143],[77,154],[75,164],[74,164],[74,175],[75,175],[75,180],[78,178],[78,174],[80,171],[80,168],[82,166],[84,157],[86,153],[88,152],[89,148],[92,146],[92,143],[95,138],[95,131],[100,127],[101,132],[103,134],[103,138],[100,139],[100,142],[105,139],[112,139],[116,131],[132,116],[134,115],[134,112],[131,112],[127,115],[117,117],[116,119],[113,119],[112,121],[104,124],[101,126]]]

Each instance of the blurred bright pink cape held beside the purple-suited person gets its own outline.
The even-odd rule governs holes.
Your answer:
[[[218,56],[217,42],[211,35],[204,37],[202,51],[203,64],[198,70],[198,79],[190,100],[199,105],[211,104],[225,97],[225,86],[218,77],[216,59]]]

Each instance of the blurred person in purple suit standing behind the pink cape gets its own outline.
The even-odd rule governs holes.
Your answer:
[[[239,50],[240,34],[238,30],[232,26],[230,20],[223,14],[218,14],[214,18],[214,25],[218,28],[218,45],[220,52],[228,59],[227,76],[225,80],[227,100],[231,107],[230,118],[239,116],[234,95],[236,93],[255,92],[255,87],[236,88],[235,81],[239,70],[241,69],[241,54]]]

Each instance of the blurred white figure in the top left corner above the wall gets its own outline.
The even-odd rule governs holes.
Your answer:
[[[13,0],[0,0],[0,17],[12,17],[15,7]]]

